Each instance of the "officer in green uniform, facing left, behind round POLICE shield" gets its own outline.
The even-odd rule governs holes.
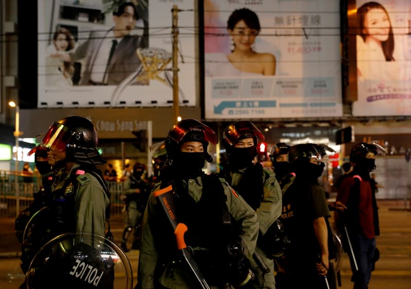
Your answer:
[[[48,252],[40,251],[37,255],[40,256],[39,260],[34,258],[30,267],[32,269],[27,275],[30,288],[91,288],[92,282],[97,282],[96,274],[100,274],[97,267],[101,265],[98,262],[103,259],[92,251],[97,237],[104,237],[110,203],[102,173],[96,168],[96,165],[105,163],[97,149],[97,141],[97,131],[91,121],[79,116],[69,116],[54,122],[39,145],[40,148],[47,149],[49,162],[54,162],[58,169],[50,189],[52,200],[43,213],[37,214],[38,219],[32,220],[33,226],[29,234],[37,236],[35,231],[41,230],[44,232],[42,237],[48,241],[61,234],[65,236],[64,233],[77,233],[76,247],[71,246],[77,257],[70,255],[72,251],[68,248],[60,252],[56,247],[55,250],[48,251],[50,256]],[[37,148],[31,153],[33,151],[37,151]],[[88,234],[97,236],[96,240],[82,237],[89,236]],[[93,279],[81,279],[78,274],[69,274],[76,262],[77,265],[85,262],[83,266],[95,267]],[[112,265],[108,268],[112,268]],[[104,270],[98,278],[101,281],[100,287],[112,288],[114,272],[112,269]]]

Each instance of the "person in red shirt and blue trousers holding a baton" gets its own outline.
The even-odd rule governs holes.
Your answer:
[[[376,236],[380,235],[378,207],[370,172],[384,149],[377,144],[357,143],[350,152],[352,171],[338,187],[334,208],[343,247],[349,252],[354,289],[366,289],[378,259]]]

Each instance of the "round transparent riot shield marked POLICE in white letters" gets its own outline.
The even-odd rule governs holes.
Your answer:
[[[26,274],[27,289],[132,289],[133,274],[124,252],[93,234],[66,233],[45,244]]]

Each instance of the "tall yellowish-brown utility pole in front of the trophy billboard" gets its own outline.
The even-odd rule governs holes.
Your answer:
[[[171,9],[173,15],[173,124],[177,122],[180,116],[180,102],[178,101],[178,7],[173,5]]]

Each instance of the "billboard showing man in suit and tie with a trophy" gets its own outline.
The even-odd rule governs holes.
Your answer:
[[[39,108],[172,105],[174,3],[125,2],[39,1]],[[179,57],[179,100],[195,106],[194,2],[175,4],[188,60]]]

